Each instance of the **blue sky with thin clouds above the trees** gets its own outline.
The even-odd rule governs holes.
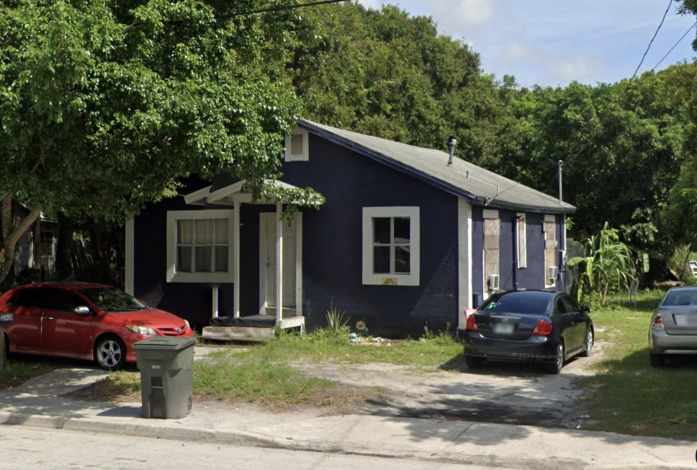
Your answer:
[[[485,73],[514,75],[519,84],[617,82],[638,66],[668,0],[358,0],[379,8],[398,5],[430,16],[438,31],[469,43]],[[639,73],[651,70],[695,22],[675,1]],[[657,70],[691,60],[690,31]]]

